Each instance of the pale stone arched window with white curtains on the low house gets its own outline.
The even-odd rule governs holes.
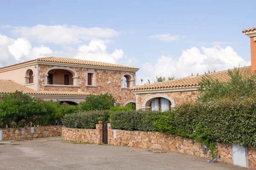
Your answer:
[[[156,99],[158,99],[158,100],[156,100]],[[157,110],[156,108],[158,107],[159,111],[167,110],[167,108],[161,109],[161,106],[166,107],[167,103],[164,104],[164,102],[167,102],[167,100],[169,101],[169,109],[168,110],[171,110],[172,108],[175,107],[175,102],[174,102],[174,99],[167,96],[167,94],[153,94],[153,95],[148,96],[142,104],[142,109],[143,110],[152,109],[152,107],[154,107],[153,110]],[[152,104],[151,102],[155,102],[155,105],[154,105],[154,103]],[[163,102],[163,104],[161,102]],[[152,106],[152,105],[154,105],[154,106]]]

